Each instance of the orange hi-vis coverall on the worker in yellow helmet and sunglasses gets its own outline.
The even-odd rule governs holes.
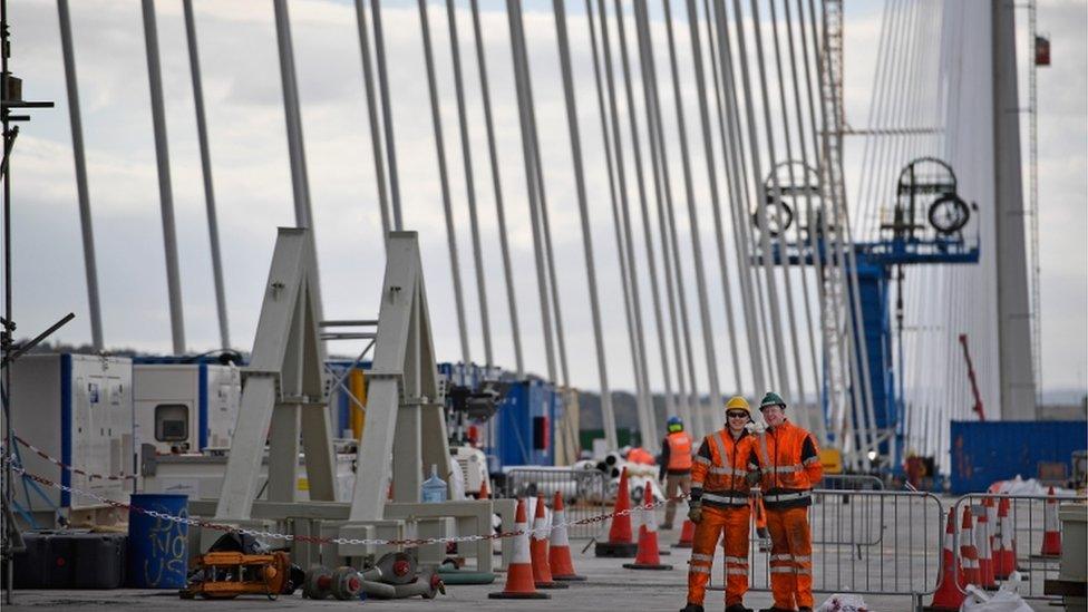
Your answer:
[[[722,535],[726,553],[726,606],[741,603],[748,591],[748,465],[755,462],[754,438],[728,429],[707,436],[691,466],[691,503],[702,507],[696,525],[688,569],[688,603],[702,605],[713,565],[715,546]],[[722,532],[725,532],[722,534]]]

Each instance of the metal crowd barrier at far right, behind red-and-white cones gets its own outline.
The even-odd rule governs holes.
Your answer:
[[[962,543],[962,526],[963,526],[963,511],[966,507],[971,508],[971,518],[975,535],[975,545],[978,545],[979,534],[979,517],[987,512],[983,503],[990,499],[993,502],[994,508],[1001,503],[1001,499],[1009,501],[1008,509],[1008,523],[1007,525],[1012,528],[1012,537],[1014,541],[1013,550],[1016,552],[1017,565],[1016,570],[1020,573],[1020,596],[1030,600],[1048,600],[1052,602],[1061,601],[1060,596],[1047,595],[1043,592],[1045,583],[1047,580],[1053,580],[1058,577],[1060,556],[1045,556],[1042,552],[1042,541],[1046,533],[1046,513],[1047,513],[1047,502],[1052,499],[1047,495],[997,495],[988,493],[971,493],[963,495],[952,505],[951,512],[955,513],[955,533],[953,536],[953,553],[956,564],[960,563],[960,546]],[[1059,504],[1068,502],[1079,502],[1085,503],[1086,498],[1084,496],[1079,497],[1057,497],[1058,504],[1055,505],[1053,512],[1056,513],[1053,525],[1060,531],[1061,525],[1057,521],[1057,507]],[[999,509],[999,508],[998,508]],[[1000,525],[993,523],[993,515],[995,511],[991,511],[988,516],[989,524],[989,535],[992,537]],[[942,527],[943,528],[943,527]],[[991,551],[995,546],[991,544]],[[964,585],[958,584],[960,591],[964,591]]]

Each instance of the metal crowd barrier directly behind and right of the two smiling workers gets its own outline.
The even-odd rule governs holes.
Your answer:
[[[843,497],[849,503],[843,503]],[[941,579],[943,506],[923,492],[813,492],[813,591],[904,595],[919,609]],[[769,550],[751,542],[749,582],[770,590]]]

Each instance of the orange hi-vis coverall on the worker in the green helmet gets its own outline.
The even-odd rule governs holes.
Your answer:
[[[784,421],[757,437],[762,501],[770,531],[775,608],[813,608],[812,489],[824,477],[813,435]]]

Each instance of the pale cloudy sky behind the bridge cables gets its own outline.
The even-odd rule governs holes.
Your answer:
[[[543,375],[531,224],[502,4],[494,0],[482,2],[483,27],[526,368]],[[569,27],[609,377],[613,388],[631,389],[632,367],[621,314],[622,292],[589,37],[584,13],[575,8],[581,3],[571,4]],[[271,2],[260,0],[196,0],[194,6],[231,341],[235,348],[247,350],[253,343],[275,227],[294,224],[273,11]],[[429,17],[439,51],[438,87],[456,241],[466,288],[470,358],[479,362],[483,342],[444,6],[430,2]],[[473,120],[470,145],[493,343],[496,362],[513,369],[472,29],[467,2],[457,6],[465,79],[469,84],[467,111]],[[536,111],[543,126],[544,178],[552,207],[571,381],[596,389],[585,261],[550,6],[527,3],[530,62],[538,94]],[[857,126],[864,124],[868,111],[880,4],[854,8],[857,3],[848,2],[847,7],[845,103],[848,120]],[[218,330],[181,1],[159,1],[156,9],[187,349],[204,351],[218,348]],[[12,158],[14,319],[19,334],[30,336],[71,311],[76,320],[58,332],[57,339],[88,342],[90,328],[56,2],[9,0],[9,10],[11,67],[23,79],[25,98],[57,103],[52,110],[35,111],[33,120],[22,126]],[[1023,11],[1019,12],[1023,17]],[[385,262],[354,9],[344,1],[292,0],[290,13],[326,318],[372,318],[378,310]],[[106,344],[169,352],[163,230],[140,6],[135,0],[79,0],[71,2],[71,14]],[[462,354],[418,13],[415,2],[388,0],[382,14],[405,226],[420,234],[437,353],[443,360],[458,360]],[[660,13],[655,12],[653,19],[660,66],[666,48],[663,26]],[[1050,37],[1052,56],[1052,66],[1039,70],[1038,81],[1043,386],[1084,389],[1088,370],[1088,9],[1072,0],[1042,1],[1038,19],[1040,32]],[[688,39],[684,28],[680,30],[678,45],[684,49]],[[686,100],[690,103],[689,125],[697,120],[693,99],[687,96]],[[699,214],[707,215],[700,218],[709,218],[705,206]],[[681,214],[678,223],[678,231],[687,235],[687,215]],[[713,261],[711,230],[697,226],[705,256],[708,262]],[[686,250],[681,259],[688,270],[689,309],[696,322],[687,239],[681,240],[681,246]],[[644,258],[640,258],[644,264]],[[729,358],[721,339],[726,329],[721,312],[725,298],[713,279],[708,291],[719,369],[728,372]],[[648,328],[647,333],[651,337],[652,329]],[[338,343],[329,350],[349,354],[358,347]],[[705,363],[698,367],[706,380]],[[651,379],[660,379],[655,363]],[[727,389],[729,379],[725,376]]]

